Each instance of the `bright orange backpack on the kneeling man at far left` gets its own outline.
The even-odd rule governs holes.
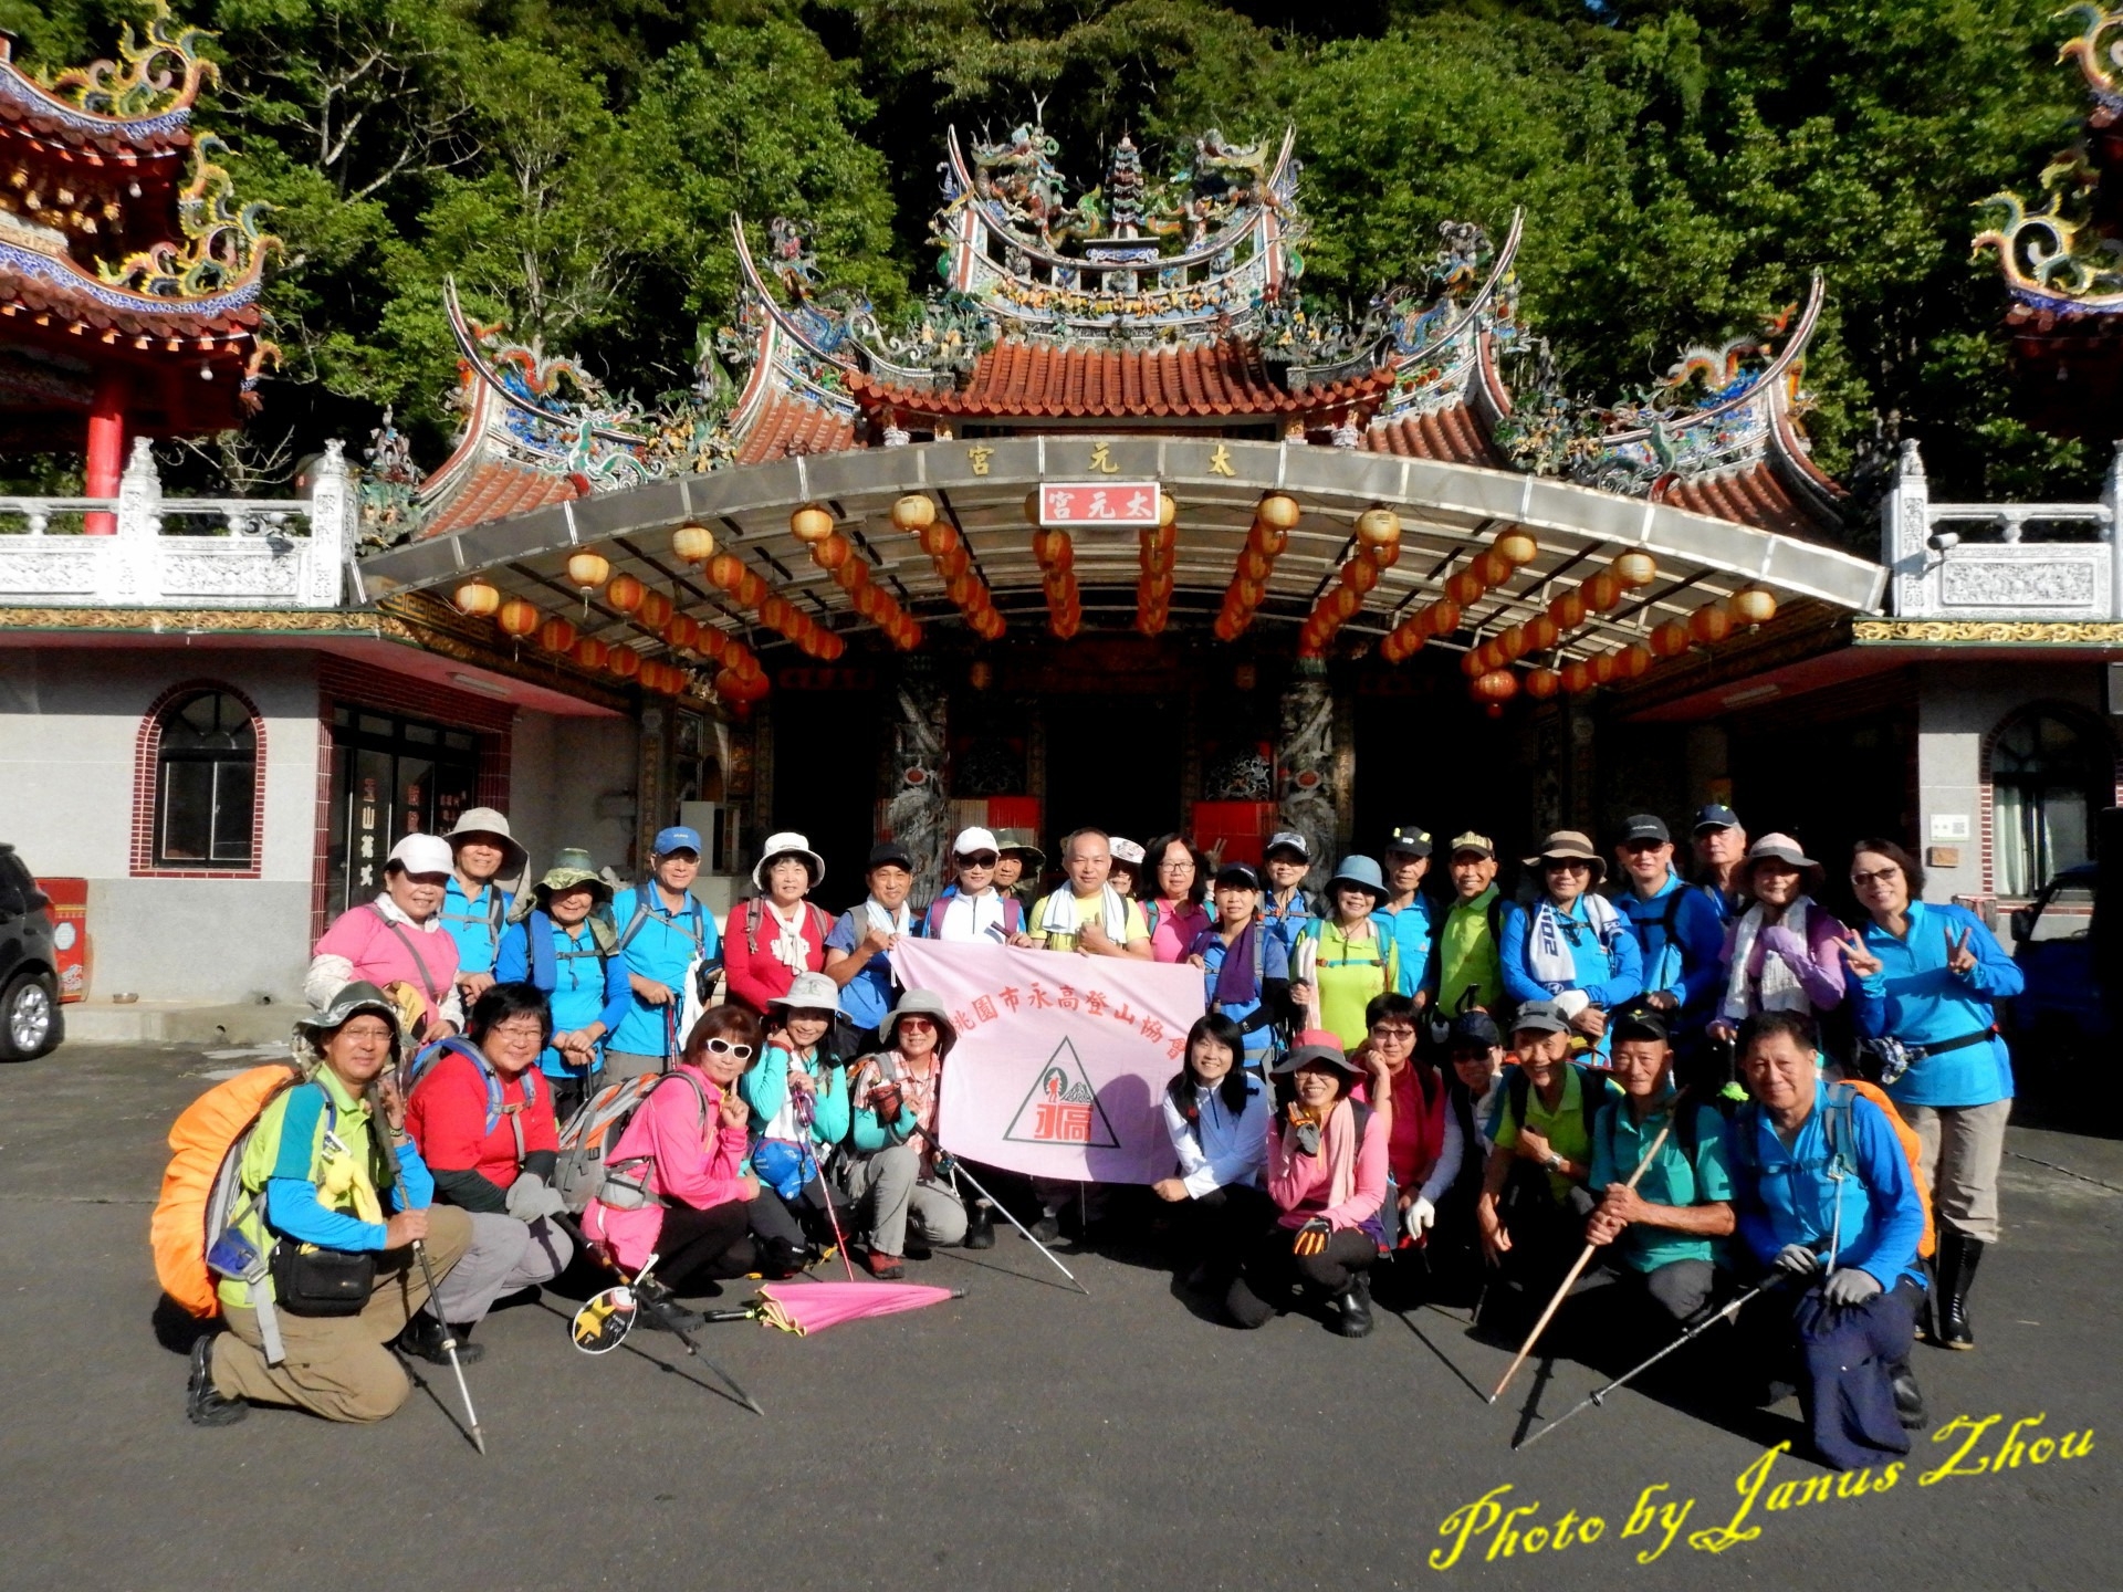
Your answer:
[[[170,1125],[170,1165],[149,1221],[155,1280],[187,1314],[210,1320],[221,1295],[206,1252],[236,1218],[238,1167],[265,1108],[304,1080],[293,1061],[272,1061],[217,1083]]]

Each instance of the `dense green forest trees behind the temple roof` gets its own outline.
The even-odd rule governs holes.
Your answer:
[[[1045,106],[1091,183],[1121,132],[1299,132],[1306,287],[1361,304],[1437,223],[1526,210],[1524,306],[1605,395],[1830,282],[1819,461],[1864,495],[1898,437],[1951,495],[2085,492],[2106,450],[2010,418],[1974,204],[2032,189],[2085,113],[2055,0],[185,0],[219,30],[204,125],[278,206],[284,350],[253,450],[427,463],[454,352],[439,284],[652,399],[730,312],[732,210],[809,219],[881,310],[932,278],[945,125]],[[36,64],[130,0],[0,0]],[[1856,533],[1868,541],[1866,533]]]

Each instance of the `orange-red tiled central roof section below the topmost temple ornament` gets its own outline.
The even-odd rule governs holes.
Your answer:
[[[1064,348],[1004,338],[981,354],[962,388],[896,386],[862,374],[847,384],[870,412],[1214,418],[1369,405],[1393,384],[1393,371],[1287,393],[1267,378],[1259,350],[1238,340],[1199,348]]]

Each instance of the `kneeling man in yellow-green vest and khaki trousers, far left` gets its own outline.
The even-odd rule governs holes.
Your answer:
[[[376,985],[350,983],[316,1021],[295,1025],[295,1059],[314,1070],[259,1112],[240,1170],[236,1225],[257,1252],[274,1254],[259,1282],[270,1299],[223,1278],[229,1331],[191,1350],[193,1424],[242,1420],[244,1399],[327,1420],[382,1420],[412,1392],[384,1348],[427,1303],[412,1246],[427,1244],[439,1280],[471,1244],[471,1223],[448,1206],[429,1210],[435,1180],[405,1136],[397,1055],[397,1015]],[[397,1189],[374,1138],[378,1117],[397,1148]],[[278,1361],[267,1359],[259,1303],[272,1305]]]

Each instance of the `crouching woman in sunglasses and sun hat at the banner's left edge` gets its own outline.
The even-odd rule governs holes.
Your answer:
[[[849,1074],[856,1110],[836,1180],[866,1223],[862,1263],[873,1278],[898,1278],[907,1274],[900,1257],[921,1259],[966,1238],[966,1206],[936,1176],[936,1091],[957,1029],[943,996],[909,989],[877,1040],[883,1049]]]

